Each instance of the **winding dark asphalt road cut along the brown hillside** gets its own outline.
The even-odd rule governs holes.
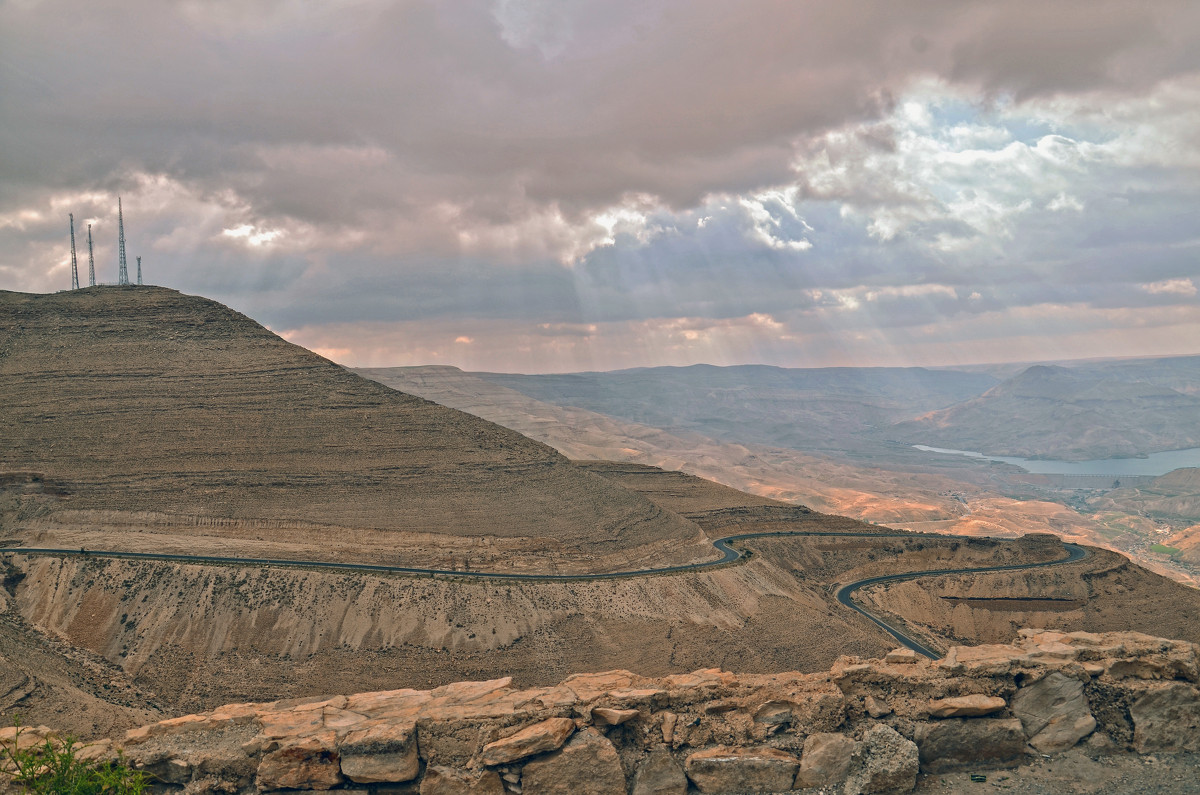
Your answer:
[[[730,566],[737,563],[738,561],[745,560],[750,556],[750,552],[744,552],[736,549],[732,544],[737,542],[749,540],[751,538],[779,538],[786,536],[818,536],[818,537],[844,537],[844,538],[937,538],[937,539],[952,539],[953,536],[940,536],[936,533],[838,533],[838,532],[820,532],[820,531],[781,531],[781,532],[764,532],[764,533],[739,533],[737,536],[726,536],[725,538],[718,538],[713,542],[713,546],[721,552],[721,557],[713,561],[704,561],[702,563],[682,563],[679,566],[662,566],[659,568],[647,568],[647,569],[631,569],[628,572],[606,572],[602,574],[515,574],[506,572],[464,572],[455,569],[431,569],[431,568],[416,568],[408,566],[382,566],[371,563],[335,563],[330,561],[292,561],[286,558],[271,558],[271,557],[220,557],[215,555],[175,555],[170,552],[119,552],[113,550],[83,550],[83,549],[47,549],[47,548],[32,548],[32,546],[10,546],[0,548],[0,556],[2,555],[50,555],[56,557],[115,557],[126,560],[138,560],[138,561],[167,561],[173,563],[199,563],[199,564],[232,564],[232,566],[272,566],[272,567],[289,567],[289,568],[316,568],[316,569],[334,569],[334,570],[346,570],[346,572],[371,572],[379,574],[407,574],[415,576],[440,576],[440,578],[455,578],[455,579],[473,579],[473,580],[533,580],[540,582],[578,582],[583,580],[617,580],[628,579],[635,576],[649,576],[654,574],[682,574],[686,572],[698,572],[702,569],[716,568],[722,566]],[[857,582],[851,582],[838,588],[835,594],[838,602],[842,605],[860,612],[866,616],[870,621],[877,624],[881,629],[890,634],[898,641],[912,648],[919,654],[924,654],[931,659],[937,659],[940,654],[931,651],[930,648],[923,646],[917,640],[904,634],[900,629],[890,626],[883,618],[876,616],[875,614],[868,611],[865,608],[859,605],[853,599],[853,593],[860,587],[868,585],[875,585],[877,582],[893,582],[899,580],[914,580],[920,576],[936,576],[941,574],[977,574],[986,572],[1015,572],[1021,569],[1039,568],[1043,566],[1058,566],[1062,563],[1072,563],[1074,561],[1082,560],[1088,555],[1087,550],[1082,546],[1076,546],[1075,544],[1063,544],[1067,548],[1067,557],[1056,561],[1045,561],[1040,563],[1014,563],[1009,566],[986,566],[982,568],[959,568],[959,569],[930,569],[925,572],[908,572],[905,574],[889,574],[884,576],[872,576],[865,580],[859,580]]]

